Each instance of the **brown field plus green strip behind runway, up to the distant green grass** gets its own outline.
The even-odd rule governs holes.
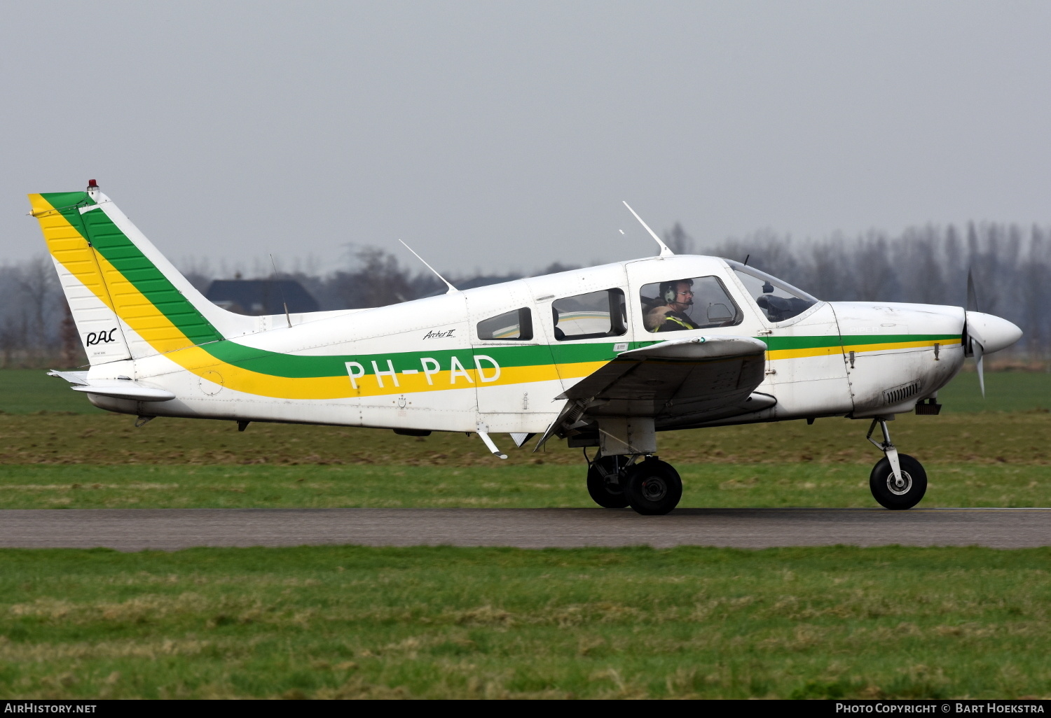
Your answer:
[[[874,506],[867,422],[825,419],[661,436],[682,506]],[[1051,505],[1051,415],[903,417],[924,506]],[[506,439],[506,445],[510,444]],[[0,416],[0,507],[592,506],[578,449],[509,450],[476,438],[114,415]]]

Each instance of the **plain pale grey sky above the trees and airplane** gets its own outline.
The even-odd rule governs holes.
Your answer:
[[[177,262],[438,269],[1051,223],[1051,3],[5,3],[0,261],[103,191]],[[623,229],[621,235],[618,230]]]

